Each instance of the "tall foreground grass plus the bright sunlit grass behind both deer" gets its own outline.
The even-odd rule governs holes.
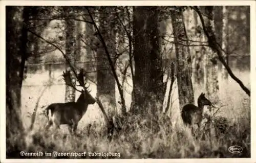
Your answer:
[[[235,72],[249,87],[249,72]],[[176,86],[174,86],[176,87]],[[55,91],[53,91],[55,90]],[[63,86],[52,86],[42,97],[40,105],[52,102],[63,102]],[[203,91],[203,86],[194,84],[195,97]],[[30,125],[30,117],[36,98],[32,94],[38,90],[30,87],[23,88],[23,119],[25,126]],[[95,92],[92,93],[93,95]],[[30,98],[29,98],[30,97]],[[53,98],[54,97],[54,98]],[[99,109],[92,105],[79,122],[77,136],[69,134],[65,126],[61,129],[45,131],[47,118],[40,111],[37,113],[33,131],[28,132],[25,139],[13,137],[13,144],[20,145],[17,150],[27,152],[51,152],[52,156],[41,158],[216,158],[216,157],[250,157],[250,99],[239,85],[229,79],[220,80],[220,101],[216,105],[226,105],[218,113],[227,121],[225,132],[210,128],[210,134],[203,128],[191,135],[180,118],[177,99],[177,89],[174,89],[174,104],[170,110],[172,116],[159,117],[156,115],[130,115],[123,123],[122,130],[115,133],[111,141],[106,137],[106,129]],[[175,100],[177,99],[177,100]],[[33,102],[31,102],[33,101]],[[90,134],[88,124],[91,124]],[[215,122],[219,123],[219,122]],[[228,148],[238,145],[243,148],[239,154],[232,154]],[[87,152],[86,156],[53,156],[53,152]],[[91,156],[89,156],[89,152]],[[94,152],[103,153],[93,156]],[[105,153],[105,154],[104,154]],[[108,153],[108,154],[107,154]],[[110,154],[111,153],[111,154]],[[117,153],[115,156],[114,153]],[[9,153],[10,157],[22,157],[19,153]],[[22,157],[40,158],[40,157]]]

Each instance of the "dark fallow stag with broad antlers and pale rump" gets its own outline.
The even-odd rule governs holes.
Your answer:
[[[78,122],[81,120],[83,115],[86,113],[88,105],[94,104],[96,100],[90,95],[86,83],[83,79],[83,69],[80,70],[80,73],[77,77],[80,86],[83,87],[83,90],[76,89],[75,85],[72,84],[70,71],[63,72],[63,78],[65,83],[75,90],[80,91],[81,95],[76,102],[67,102],[67,103],[53,103],[46,108],[46,114],[48,118],[48,124],[46,129],[49,129],[52,125],[55,128],[59,128],[60,125],[68,125],[70,133],[75,133],[77,129]]]

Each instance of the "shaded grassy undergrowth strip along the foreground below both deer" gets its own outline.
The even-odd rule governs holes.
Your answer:
[[[44,123],[41,123],[44,124]],[[217,131],[218,132],[218,131]],[[9,157],[16,158],[216,158],[216,157],[250,157],[250,125],[249,119],[237,119],[229,124],[225,133],[211,134],[203,129],[191,135],[183,125],[172,125],[170,120],[158,122],[132,116],[124,123],[120,133],[113,139],[106,138],[104,125],[94,124],[88,133],[84,127],[76,136],[66,130],[44,130],[44,125],[27,133],[24,137],[13,136],[12,150]],[[232,154],[228,148],[239,145],[242,153]],[[10,147],[9,147],[10,148]],[[21,156],[20,151],[44,153],[43,156]],[[86,156],[60,156],[57,152],[87,152]],[[45,152],[52,153],[46,156]],[[91,152],[91,155],[89,155]],[[101,155],[93,156],[93,153]],[[103,153],[103,154],[102,154]],[[105,154],[104,154],[105,153]],[[111,153],[111,155],[110,155]],[[114,155],[114,153],[117,153]]]

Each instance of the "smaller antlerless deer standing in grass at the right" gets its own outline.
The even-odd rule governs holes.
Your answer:
[[[211,102],[201,94],[197,100],[198,106],[194,104],[187,104],[183,106],[181,117],[185,125],[197,124],[200,128],[201,121],[203,120],[203,108],[206,105],[211,105]]]

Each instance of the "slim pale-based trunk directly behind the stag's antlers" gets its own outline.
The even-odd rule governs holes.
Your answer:
[[[69,13],[71,15],[67,16],[72,16],[73,11],[70,7],[63,7],[63,11],[66,11],[66,13]],[[75,39],[75,21],[70,18],[65,19],[66,22],[66,56],[67,59],[69,59],[70,64],[72,66],[75,65],[75,60],[76,60],[76,39]],[[69,62],[66,61],[66,69],[70,69]],[[76,84],[76,78],[73,72],[71,71],[71,79],[73,82],[73,85]],[[75,101],[75,89],[72,88],[71,86],[66,85],[66,92],[65,92],[65,102],[74,102]]]

